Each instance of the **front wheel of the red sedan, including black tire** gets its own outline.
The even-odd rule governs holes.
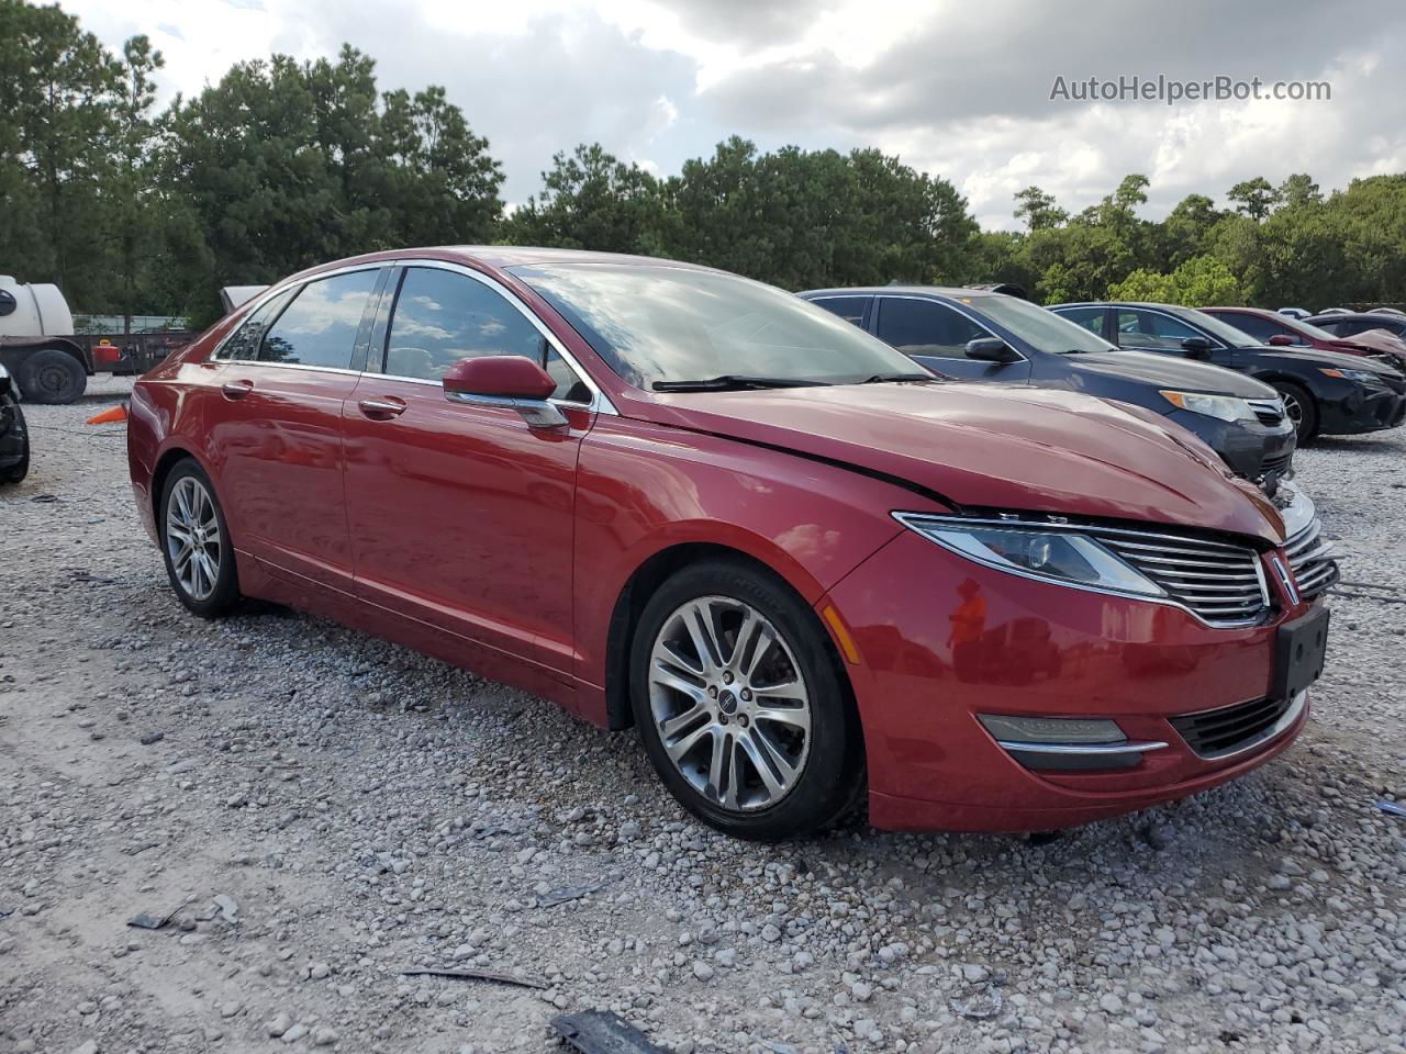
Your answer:
[[[835,822],[863,784],[863,745],[814,611],[742,562],[696,564],[650,599],[630,658],[636,724],[693,815],[756,840]]]

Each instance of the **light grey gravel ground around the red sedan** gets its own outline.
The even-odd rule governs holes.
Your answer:
[[[1406,434],[1299,457],[1351,585],[1278,762],[1047,845],[755,846],[633,734],[299,614],[186,614],[121,426],[83,424],[124,388],[28,406],[0,492],[0,1048],[546,1051],[613,1009],[681,1054],[1406,1051],[1406,821],[1374,808],[1406,798]]]

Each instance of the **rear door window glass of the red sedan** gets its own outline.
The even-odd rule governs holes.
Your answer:
[[[302,287],[264,336],[260,363],[349,370],[361,315],[380,271],[352,271]]]

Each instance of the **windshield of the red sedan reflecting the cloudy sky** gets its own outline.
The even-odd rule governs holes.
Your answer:
[[[912,360],[824,308],[747,278],[666,264],[537,264],[513,274],[638,388],[725,375],[858,384]]]

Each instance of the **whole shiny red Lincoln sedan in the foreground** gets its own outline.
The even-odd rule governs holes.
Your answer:
[[[143,377],[128,441],[191,611],[292,604],[637,725],[747,838],[1180,798],[1288,746],[1323,662],[1306,500],[664,260],[305,271]]]

